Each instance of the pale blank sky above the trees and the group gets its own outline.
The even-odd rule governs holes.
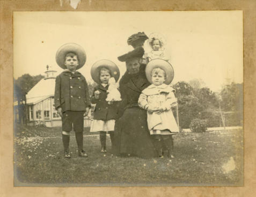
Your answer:
[[[126,71],[118,56],[133,50],[127,39],[137,32],[163,36],[174,69],[173,84],[201,79],[213,91],[227,82],[243,82],[242,11],[147,12],[14,12],[13,77],[43,74],[46,65],[62,69],[56,51],[77,43],[86,52],[79,69],[91,81],[90,69],[100,59],[112,60]],[[148,42],[145,51],[151,49]]]

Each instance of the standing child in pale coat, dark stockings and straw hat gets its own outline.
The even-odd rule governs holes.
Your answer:
[[[159,59],[157,60],[159,63]],[[149,79],[149,72],[152,84],[142,91],[138,99],[138,105],[147,110],[148,128],[151,135],[154,137],[155,147],[159,157],[163,157],[163,151],[167,150],[169,157],[174,158],[173,139],[172,135],[179,132],[176,120],[173,116],[171,107],[177,104],[177,99],[174,96],[174,89],[169,86],[173,78],[170,74],[172,67],[165,60],[160,60],[162,65],[155,66],[147,65],[146,75]],[[151,62],[152,63],[152,62]],[[169,65],[170,66],[169,66]],[[148,70],[147,70],[148,69]],[[168,73],[168,75],[166,74]],[[167,77],[169,79],[167,80]]]

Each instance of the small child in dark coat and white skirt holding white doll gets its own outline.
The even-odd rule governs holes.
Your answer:
[[[111,142],[113,143],[115,119],[118,108],[117,101],[120,100],[114,96],[108,98],[108,94],[112,94],[109,90],[109,80],[117,81],[119,79],[119,69],[110,60],[99,60],[94,63],[91,69],[92,79],[97,82],[91,97],[91,103],[96,104],[93,112],[93,120],[91,123],[90,132],[99,132],[101,152],[106,150],[106,134],[109,132]],[[114,83],[112,82],[114,86]],[[118,91],[118,89],[114,89]]]

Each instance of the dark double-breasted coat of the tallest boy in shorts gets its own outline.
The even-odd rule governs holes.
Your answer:
[[[63,71],[56,77],[54,104],[62,112],[85,111],[91,106],[87,82],[80,72]]]

